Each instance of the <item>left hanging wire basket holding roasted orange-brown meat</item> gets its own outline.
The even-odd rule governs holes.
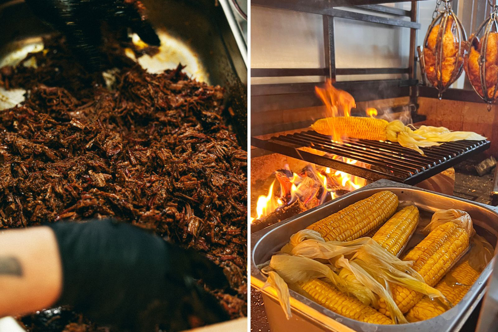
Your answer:
[[[451,9],[451,1],[437,1],[423,49],[417,48],[422,79],[439,91],[439,99],[462,74],[466,53],[467,34]],[[439,9],[442,2],[444,6]]]

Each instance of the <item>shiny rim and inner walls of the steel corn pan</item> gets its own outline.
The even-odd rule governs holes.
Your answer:
[[[403,190],[406,189],[406,190]],[[341,196],[340,198],[325,203],[319,207],[308,210],[302,214],[289,218],[285,221],[278,222],[272,226],[269,226],[265,229],[262,229],[258,232],[251,234],[251,261],[250,261],[250,271],[251,271],[251,284],[255,287],[254,281],[264,282],[266,277],[263,276],[259,269],[256,267],[257,264],[260,264],[271,256],[273,252],[278,250],[283,243],[288,241],[289,236],[298,231],[299,229],[305,228],[307,225],[311,224],[314,221],[319,220],[319,218],[323,218],[320,215],[327,216],[331,213],[337,212],[349,204],[366,198],[372,195],[375,192],[380,190],[392,190],[395,193],[399,192],[400,195],[408,195],[417,193],[419,196],[426,195],[425,201],[424,199],[419,200],[419,202],[415,202],[418,206],[422,206],[427,210],[431,210],[430,205],[437,205],[439,209],[450,209],[450,208],[461,208],[469,212],[473,220],[475,221],[477,226],[483,227],[487,229],[491,234],[493,234],[494,238],[490,239],[490,243],[493,245],[496,244],[497,238],[497,229],[498,229],[498,208],[491,207],[485,204],[476,203],[448,195],[443,195],[439,193],[435,193],[432,191],[416,188],[413,186],[400,184],[397,182],[389,181],[389,180],[379,180],[370,185],[367,185],[359,190],[351,192],[347,195]],[[314,218],[316,219],[313,219]],[[265,248],[261,249],[263,244]],[[314,309],[320,314],[333,318],[334,320],[340,322],[345,327],[356,331],[378,331],[378,332],[414,332],[414,331],[438,331],[438,332],[450,332],[450,331],[458,331],[465,323],[467,318],[472,312],[472,309],[477,305],[479,300],[484,296],[486,281],[491,275],[493,268],[493,261],[488,264],[485,270],[481,273],[481,276],[476,280],[474,285],[470,288],[469,292],[464,296],[464,298],[460,301],[458,305],[448,310],[444,314],[435,317],[433,319],[403,324],[403,325],[394,325],[394,326],[384,326],[384,325],[376,325],[376,324],[368,324],[355,320],[351,320],[345,318],[341,315],[338,315],[317,303],[305,298],[302,295],[299,295],[293,291],[290,291],[291,297],[298,300],[305,306]],[[261,283],[258,282],[258,285]],[[265,296],[270,298],[274,298],[269,292],[262,290]],[[297,312],[299,316],[305,316],[310,322],[317,322],[317,319],[311,317],[303,313],[302,311],[293,308],[294,312]],[[335,330],[332,329],[331,330]],[[326,330],[325,330],[326,331]]]

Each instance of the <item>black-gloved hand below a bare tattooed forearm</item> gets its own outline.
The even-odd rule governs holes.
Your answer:
[[[96,323],[120,331],[181,331],[227,320],[219,302],[195,281],[228,286],[220,267],[199,253],[114,221],[58,222],[63,289],[72,305]]]

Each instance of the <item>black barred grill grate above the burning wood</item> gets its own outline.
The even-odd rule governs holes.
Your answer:
[[[372,181],[388,179],[413,185],[488,149],[491,142],[447,142],[422,148],[425,153],[422,156],[398,143],[353,138],[336,142],[331,141],[330,136],[307,130],[273,136],[268,140],[252,137],[251,145]],[[361,161],[362,165],[349,164],[339,160],[340,157]]]

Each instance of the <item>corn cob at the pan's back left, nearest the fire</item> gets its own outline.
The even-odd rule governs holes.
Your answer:
[[[381,191],[309,225],[327,241],[357,239],[386,221],[398,207],[398,197]]]

